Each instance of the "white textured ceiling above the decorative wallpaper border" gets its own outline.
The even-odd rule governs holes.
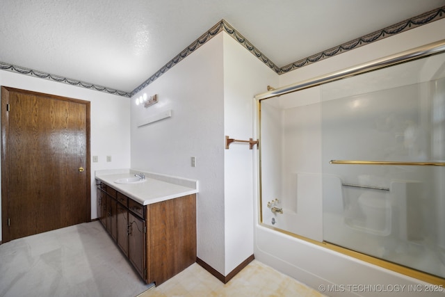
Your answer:
[[[225,19],[278,67],[445,0],[0,0],[0,62],[131,92]]]

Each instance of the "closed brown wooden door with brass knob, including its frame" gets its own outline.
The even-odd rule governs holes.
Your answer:
[[[90,221],[90,103],[1,88],[3,241]]]

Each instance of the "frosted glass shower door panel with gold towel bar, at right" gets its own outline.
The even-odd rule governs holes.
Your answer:
[[[445,277],[445,55],[322,86],[323,240]]]

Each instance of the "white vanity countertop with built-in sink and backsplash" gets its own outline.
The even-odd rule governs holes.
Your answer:
[[[145,174],[145,182],[136,184],[115,183],[116,179],[134,177],[134,174],[139,172]],[[179,198],[198,192],[197,181],[195,180],[159,175],[141,170],[97,170],[95,177],[143,205]]]

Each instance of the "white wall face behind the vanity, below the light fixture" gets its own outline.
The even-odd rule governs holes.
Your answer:
[[[158,94],[145,109],[131,100],[131,168],[199,181],[197,257],[225,271],[223,35],[136,94]],[[171,118],[137,127],[171,110]],[[191,167],[191,156],[196,167]]]

